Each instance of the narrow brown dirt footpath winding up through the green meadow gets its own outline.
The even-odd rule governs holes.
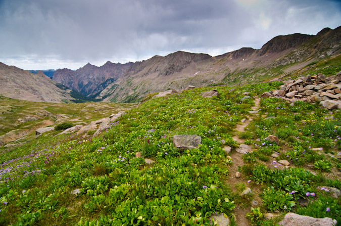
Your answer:
[[[256,98],[255,99],[255,106],[253,106],[251,109],[252,110],[257,110],[260,106],[260,99]],[[249,123],[252,121],[252,117],[247,119],[246,121],[242,122],[242,124],[237,124],[235,130],[237,132],[242,132],[244,131],[245,127],[247,127],[249,125]],[[241,139],[238,137],[238,135],[235,135],[234,137],[232,137],[233,140],[235,140],[238,144],[244,144],[245,139]],[[243,176],[240,176],[239,178],[235,177],[235,173],[238,171],[238,166],[242,166],[244,164],[243,160],[242,160],[242,155],[240,153],[237,152],[232,152],[230,154],[232,160],[233,160],[233,164],[229,167],[229,176],[228,176],[228,184],[230,185],[231,191],[234,193],[238,193],[237,189],[235,188],[235,185],[237,183],[243,183],[248,185],[247,179],[244,178]],[[255,189],[253,188],[253,192],[255,192]],[[257,194],[257,192],[255,192]],[[256,195],[254,195],[254,199],[256,199],[257,201],[259,200],[258,197],[256,197]],[[246,214],[248,212],[250,212],[251,207],[247,207],[247,208],[242,208],[241,206],[236,206],[236,208],[234,209],[233,213],[235,215],[235,222],[237,226],[248,226],[250,225],[250,221],[246,218]]]

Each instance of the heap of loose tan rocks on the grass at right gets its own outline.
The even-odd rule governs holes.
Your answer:
[[[273,89],[272,94],[264,93],[262,97],[281,97],[290,103],[319,102],[329,110],[341,109],[341,71],[330,77],[319,73],[283,82],[280,89]]]

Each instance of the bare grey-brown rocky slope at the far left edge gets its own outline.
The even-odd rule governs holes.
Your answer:
[[[69,102],[70,89],[59,88],[43,72],[33,74],[0,62],[0,95],[8,98],[36,102]]]

